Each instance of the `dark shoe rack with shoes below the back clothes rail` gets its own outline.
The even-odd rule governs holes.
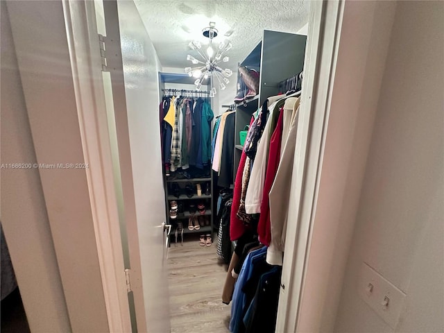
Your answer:
[[[167,224],[171,225],[170,244],[171,242],[175,244],[176,238],[178,238],[177,243],[187,241],[187,234],[211,234],[214,239],[212,186],[212,177],[176,179],[172,176],[164,176]],[[172,202],[177,203],[176,213],[171,212]],[[196,224],[199,225],[198,229],[196,229]],[[196,240],[197,238],[190,237],[189,239]]]

